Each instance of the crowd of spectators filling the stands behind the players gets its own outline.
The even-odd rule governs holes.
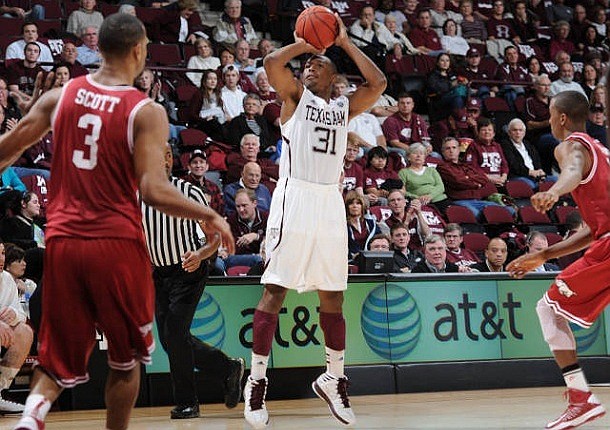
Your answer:
[[[587,97],[588,131],[607,143],[607,0],[123,3],[3,3],[0,19],[16,24],[0,26],[0,132],[21,118],[9,91],[31,95],[39,72],[53,71],[61,87],[94,71],[104,16],[135,14],[151,44],[134,85],[168,114],[174,173],[203,188],[233,228],[237,255],[221,249],[217,275],[260,273],[282,150],[282,101],[263,59],[290,42],[296,16],[316,3],[342,17],[390,83],[349,125],[339,184],[347,225],[337,228],[348,230],[352,272],[367,250],[392,252],[395,272],[502,271],[580,225],[577,211],[566,221],[559,210],[573,204],[569,196],[545,219],[524,208],[557,178],[553,95]],[[341,72],[333,97],[349,94],[357,69],[339,49],[327,55]],[[298,77],[298,61],[289,66]],[[44,247],[52,156],[49,134],[2,172],[0,237],[26,253]]]

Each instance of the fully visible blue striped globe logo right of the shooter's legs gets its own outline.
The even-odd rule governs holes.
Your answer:
[[[360,320],[368,346],[387,360],[409,355],[421,333],[417,303],[407,290],[394,284],[379,285],[369,293]]]

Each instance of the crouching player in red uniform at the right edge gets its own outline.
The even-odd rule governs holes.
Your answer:
[[[591,393],[578,364],[576,342],[569,323],[590,328],[610,302],[610,163],[608,149],[585,133],[587,99],[576,91],[557,94],[550,104],[553,136],[561,141],[555,158],[561,167],[557,182],[532,196],[532,206],[546,212],[559,196],[572,193],[586,227],[570,238],[542,251],[526,254],[507,267],[521,278],[527,272],[589,246],[585,254],[566,267],[538,301],[536,311],[544,339],[567,385],[568,407],[547,429],[578,427],[604,415],[604,407]]]

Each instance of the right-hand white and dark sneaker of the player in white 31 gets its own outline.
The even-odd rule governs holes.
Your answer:
[[[347,397],[347,378],[335,378],[327,372],[318,376],[311,388],[319,398],[328,404],[330,413],[346,427],[356,423],[356,416]]]

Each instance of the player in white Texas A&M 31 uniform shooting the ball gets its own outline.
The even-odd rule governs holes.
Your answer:
[[[348,39],[340,18],[335,18],[338,34],[334,44],[354,61],[365,79],[350,97],[330,99],[335,65],[323,50],[296,35],[293,44],[269,54],[264,62],[269,81],[284,103],[280,179],[267,225],[267,267],[261,278],[264,290],[254,314],[252,372],[244,390],[244,416],[256,429],[269,422],[265,406],[267,363],[278,312],[289,289],[318,292],[327,369],[312,388],[339,423],[355,423],[343,372],[347,231],[338,182],[347,147],[347,123],[373,105],[383,93],[386,79]],[[312,56],[299,81],[286,64],[303,54]]]

